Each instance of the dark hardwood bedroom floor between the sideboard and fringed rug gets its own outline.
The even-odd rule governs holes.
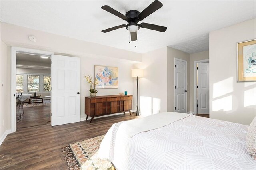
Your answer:
[[[48,114],[49,108],[40,108],[33,107],[34,111]],[[126,113],[94,119],[90,124],[89,121],[81,121],[55,127],[47,123],[17,128],[16,132],[8,134],[0,146],[0,169],[68,169],[64,160],[65,153],[61,150],[63,147],[106,134],[113,123],[136,118],[135,114],[130,116]],[[31,122],[29,124],[32,125]]]

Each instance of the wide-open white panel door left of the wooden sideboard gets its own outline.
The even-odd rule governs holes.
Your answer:
[[[52,55],[51,125],[80,121],[80,58]]]

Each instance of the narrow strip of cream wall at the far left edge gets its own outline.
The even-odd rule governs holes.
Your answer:
[[[11,129],[10,67],[8,67],[7,46],[1,43],[0,53],[0,144]],[[6,75],[7,74],[7,75]],[[3,82],[3,85],[2,85]],[[8,93],[9,92],[9,93]]]

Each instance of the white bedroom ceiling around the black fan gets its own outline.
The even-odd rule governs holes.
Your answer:
[[[102,10],[108,5],[122,14],[142,11],[153,0],[84,1],[3,1],[1,21],[44,32],[68,36],[145,53],[170,46],[187,53],[209,49],[209,32],[256,18],[256,1],[172,1],[160,0],[163,7],[142,22],[168,27],[166,32],[140,28],[137,48],[128,43],[129,32],[120,28],[108,33],[101,30],[127,24]]]

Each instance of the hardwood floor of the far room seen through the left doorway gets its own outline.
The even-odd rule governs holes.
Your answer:
[[[35,106],[35,107],[23,107],[24,115],[17,128],[32,127],[38,125],[44,125],[51,123],[51,106]],[[19,117],[18,110],[16,111],[17,118]]]

